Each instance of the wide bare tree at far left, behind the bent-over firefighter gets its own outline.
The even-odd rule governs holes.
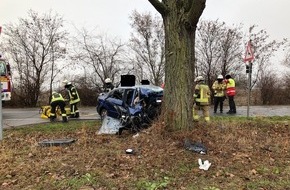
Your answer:
[[[5,51],[16,63],[19,77],[14,79],[18,80],[19,96],[25,106],[36,106],[47,77],[50,76],[52,84],[60,72],[56,63],[63,58],[62,44],[67,36],[63,19],[51,12],[39,15],[30,10],[27,19],[19,19],[18,24],[5,28]]]

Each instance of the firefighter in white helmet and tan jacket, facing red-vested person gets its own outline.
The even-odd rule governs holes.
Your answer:
[[[218,106],[220,106],[220,113],[223,113],[226,89],[223,75],[217,77],[217,80],[212,85],[212,89],[214,90],[214,113],[217,112]]]

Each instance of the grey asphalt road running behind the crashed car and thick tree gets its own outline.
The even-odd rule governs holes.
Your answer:
[[[212,109],[211,106],[211,117],[228,115],[214,114]],[[227,109],[228,106],[224,106],[224,112],[227,112]],[[81,107],[79,110],[81,120],[100,119],[95,107]],[[2,108],[3,128],[49,122],[48,119],[42,119],[40,115],[40,108]],[[247,106],[237,106],[235,116],[247,116]],[[290,116],[290,106],[250,106],[249,116]]]

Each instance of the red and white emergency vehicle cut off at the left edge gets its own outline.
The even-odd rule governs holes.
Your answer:
[[[11,100],[11,92],[12,92],[12,77],[10,65],[5,59],[0,57],[0,82],[1,82],[1,96],[2,101],[10,101]]]

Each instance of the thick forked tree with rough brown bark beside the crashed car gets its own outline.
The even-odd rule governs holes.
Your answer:
[[[165,31],[164,119],[168,130],[192,126],[195,31],[206,0],[148,0]]]

